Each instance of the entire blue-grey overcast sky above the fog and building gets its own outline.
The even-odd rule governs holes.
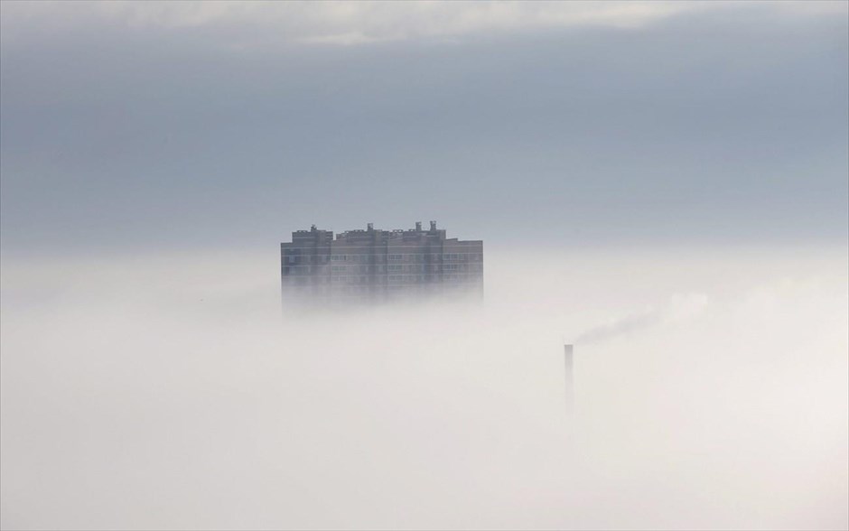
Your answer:
[[[2,4],[5,250],[844,242],[847,4]]]

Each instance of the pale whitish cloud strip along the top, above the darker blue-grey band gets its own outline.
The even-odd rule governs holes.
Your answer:
[[[817,5],[819,10],[824,6]],[[297,43],[358,45],[421,38],[457,38],[470,33],[572,27],[639,27],[676,13],[722,7],[712,3],[675,2],[501,2],[456,4],[427,2],[392,5],[379,2],[307,3],[234,2],[154,3],[61,2],[13,4],[7,16],[54,32],[91,26],[126,30],[163,29],[215,34],[219,46],[236,50]],[[787,6],[785,6],[786,8]],[[794,14],[814,11],[807,3],[789,5]],[[836,8],[835,8],[836,7]],[[832,6],[839,12],[839,6]],[[779,11],[771,9],[771,11]],[[25,29],[7,23],[12,39],[26,39]]]

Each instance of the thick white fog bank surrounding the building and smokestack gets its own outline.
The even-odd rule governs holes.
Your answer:
[[[482,303],[286,315],[276,253],[4,256],[4,528],[849,526],[845,247],[493,246]]]

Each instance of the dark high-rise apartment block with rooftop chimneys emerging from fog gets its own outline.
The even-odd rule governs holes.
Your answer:
[[[483,242],[415,228],[333,232],[313,228],[280,244],[285,301],[378,302],[403,296],[483,294]]]

